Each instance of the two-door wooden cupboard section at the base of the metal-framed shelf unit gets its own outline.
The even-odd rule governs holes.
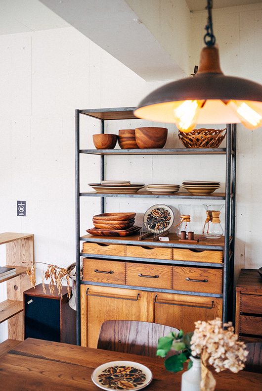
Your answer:
[[[196,320],[222,316],[222,299],[101,286],[81,286],[81,345],[96,347],[105,320],[142,320],[188,333]],[[99,308],[99,310],[97,310]]]

